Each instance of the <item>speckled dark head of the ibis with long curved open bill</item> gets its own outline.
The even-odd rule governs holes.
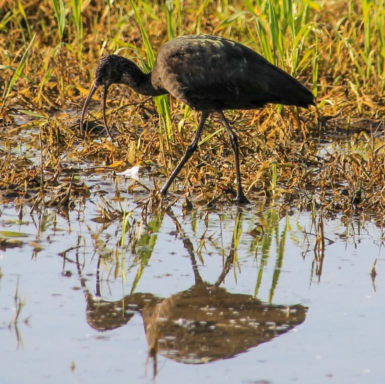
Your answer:
[[[108,135],[112,139],[111,132],[107,127],[107,120],[105,116],[107,91],[111,84],[127,84],[129,86],[135,86],[136,82],[140,79],[142,72],[138,66],[129,60],[128,58],[118,56],[116,54],[107,54],[99,59],[96,63],[94,72],[94,81],[92,87],[88,93],[88,96],[84,102],[83,110],[80,117],[80,133],[84,134],[83,120],[85,112],[88,107],[88,103],[95,93],[96,89],[100,86],[104,87],[103,90],[103,121],[104,127]]]

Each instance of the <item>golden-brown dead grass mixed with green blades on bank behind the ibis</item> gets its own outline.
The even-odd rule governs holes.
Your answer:
[[[138,63],[149,54],[131,5],[120,4],[119,11],[118,4],[109,8],[100,1],[80,2],[79,22],[76,9],[67,4],[66,23],[60,28],[53,4],[22,2],[15,9],[13,1],[0,0],[2,200],[72,209],[80,197],[90,195],[78,176],[137,164],[150,169],[161,184],[197,124],[195,113],[180,102],[169,98],[170,106],[162,112],[153,99],[115,88],[108,100],[115,141],[95,123],[85,138],[79,137],[79,109],[97,58],[122,47],[120,53],[137,57]],[[242,1],[232,6],[188,1],[171,10],[162,2],[139,1],[137,6],[155,52],[173,33],[204,32],[229,36],[264,53],[255,19],[260,17],[267,27],[269,18],[257,7],[254,15]],[[242,9],[245,13],[239,13]],[[302,61],[292,66],[290,47],[289,56],[277,54],[276,61],[309,88],[316,82],[316,108],[270,105],[227,114],[236,121],[243,185],[250,199],[310,210],[315,198],[325,212],[365,211],[383,222],[385,48],[379,45],[384,44],[384,15],[378,10],[373,5],[368,13],[350,1],[341,19],[334,19],[330,4],[301,13],[309,33],[296,30],[299,42],[292,48]],[[380,37],[368,37],[368,23]],[[293,39],[289,30],[282,27],[282,36],[285,32]],[[267,37],[274,46],[269,31]],[[100,120],[98,103],[94,110]],[[219,127],[215,116],[209,120],[196,155],[175,186],[188,190],[195,204],[228,202],[235,195],[232,152]]]

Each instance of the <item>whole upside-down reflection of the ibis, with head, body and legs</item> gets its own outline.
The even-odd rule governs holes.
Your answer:
[[[173,218],[175,219],[175,218]],[[182,363],[202,364],[233,357],[286,333],[306,318],[307,307],[274,305],[220,287],[234,259],[234,247],[214,284],[204,282],[199,274],[193,244],[182,236],[190,254],[195,283],[189,289],[168,298],[151,293],[133,293],[118,301],[105,301],[85,287],[87,322],[105,331],[126,324],[135,314],[143,319],[150,356],[156,374],[157,353]]]

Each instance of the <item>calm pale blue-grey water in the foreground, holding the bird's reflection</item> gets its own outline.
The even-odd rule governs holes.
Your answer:
[[[280,217],[263,202],[185,212],[180,199],[142,216],[139,188],[121,246],[101,196],[133,181],[84,180],[94,192],[69,219],[1,208],[2,383],[384,382],[384,230],[373,219],[324,218],[315,251],[310,213]]]

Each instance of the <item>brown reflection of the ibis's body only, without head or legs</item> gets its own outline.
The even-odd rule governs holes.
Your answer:
[[[204,282],[142,311],[153,353],[198,364],[269,341],[302,323],[305,314],[302,305],[271,305]]]

